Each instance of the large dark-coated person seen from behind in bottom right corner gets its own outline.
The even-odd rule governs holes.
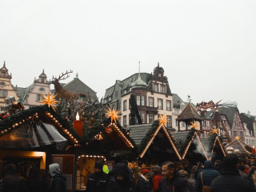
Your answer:
[[[228,154],[223,160],[221,174],[211,182],[211,192],[253,192],[254,184],[242,178],[238,173],[239,159],[235,154]]]

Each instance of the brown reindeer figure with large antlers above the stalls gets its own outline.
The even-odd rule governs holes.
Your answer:
[[[54,78],[53,76],[53,79],[50,81],[50,83],[54,84],[54,90],[58,94],[57,98],[67,98],[68,100],[70,100],[71,98],[77,98],[77,94],[74,94],[69,90],[65,90],[59,83],[59,81],[69,78],[69,74],[71,73],[73,73],[73,70],[70,70],[69,72],[66,70],[65,74],[62,73],[62,75],[59,75],[58,78]]]

